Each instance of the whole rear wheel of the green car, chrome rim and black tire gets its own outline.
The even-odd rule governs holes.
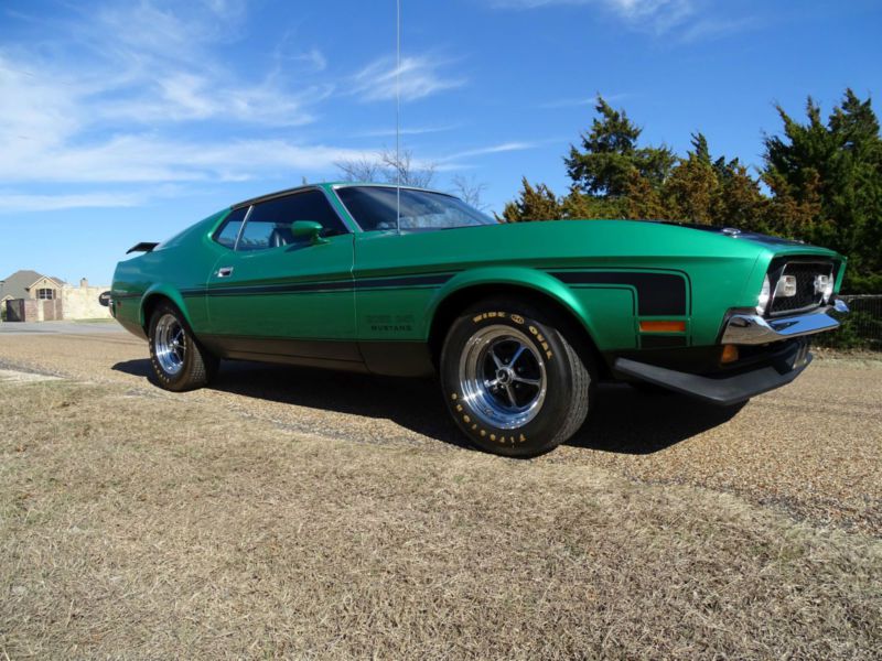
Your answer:
[[[202,388],[217,372],[217,358],[196,342],[184,316],[170,303],[153,311],[148,340],[153,373],[166,390]]]

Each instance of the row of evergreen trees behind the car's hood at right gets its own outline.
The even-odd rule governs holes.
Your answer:
[[[778,106],[783,131],[764,139],[759,177],[738,159],[713,159],[701,133],[678,156],[641,145],[624,110],[600,97],[595,110],[563,159],[569,192],[524,177],[499,220],[685,220],[796,238],[848,256],[845,292],[882,293],[882,139],[869,98],[847,89],[826,122],[810,97],[805,122]]]

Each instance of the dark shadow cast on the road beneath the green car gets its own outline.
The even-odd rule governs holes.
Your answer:
[[[155,384],[147,359],[114,370]],[[209,386],[270,402],[388,419],[418,434],[467,446],[432,379],[392,379],[320,369],[225,361]],[[603,384],[588,421],[567,445],[619,454],[652,454],[723,424],[743,404],[712,407],[678,394],[644,394],[625,384]]]

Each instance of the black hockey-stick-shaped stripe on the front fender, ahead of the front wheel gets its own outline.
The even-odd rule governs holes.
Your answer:
[[[686,281],[673,273],[627,271],[551,271],[567,284],[625,284],[637,290],[637,314],[686,315]]]

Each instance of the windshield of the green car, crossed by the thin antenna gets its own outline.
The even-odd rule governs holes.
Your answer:
[[[336,194],[365,231],[395,229],[395,186],[343,186]],[[450,229],[495,225],[495,220],[443,193],[401,188],[401,229]]]

